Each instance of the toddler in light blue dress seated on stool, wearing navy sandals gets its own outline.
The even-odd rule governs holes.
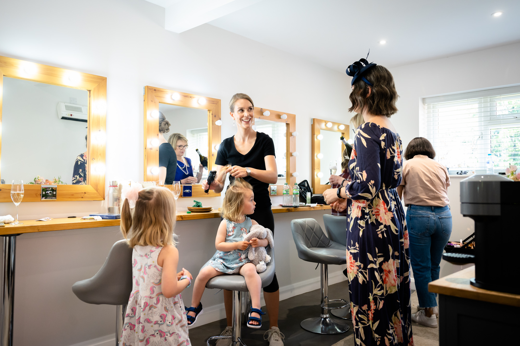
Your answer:
[[[224,220],[220,222],[215,247],[217,252],[213,255],[209,265],[202,268],[193,286],[191,308],[188,312],[188,325],[191,327],[197,322],[202,313],[200,299],[206,287],[206,283],[217,275],[236,274],[244,276],[245,284],[251,295],[252,309],[249,315],[248,327],[260,328],[262,326],[262,312],[260,307],[260,290],[262,280],[256,272],[255,265],[249,261],[246,248],[267,246],[267,239],[252,238],[250,242],[243,241],[253,224],[258,224],[246,215],[253,214],[255,202],[253,201],[253,187],[243,179],[237,178],[231,183],[224,196],[224,203],[220,216]]]

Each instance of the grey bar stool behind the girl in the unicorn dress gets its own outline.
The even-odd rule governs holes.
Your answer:
[[[126,304],[132,292],[132,251],[125,240],[116,242],[96,275],[72,285],[76,297],[85,303],[117,305],[116,346],[123,333]]]

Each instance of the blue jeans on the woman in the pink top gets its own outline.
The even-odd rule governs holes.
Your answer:
[[[437,295],[428,292],[428,283],[439,278],[440,260],[451,234],[450,208],[410,204],[406,211],[406,224],[419,306],[436,307]]]

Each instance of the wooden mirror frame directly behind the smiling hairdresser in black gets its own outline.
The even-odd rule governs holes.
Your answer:
[[[265,116],[265,111],[269,111],[270,114]],[[268,120],[271,122],[287,124],[285,126],[285,181],[287,181],[291,186],[294,185],[296,177],[293,177],[292,174],[296,171],[296,156],[293,156],[292,153],[296,151],[296,138],[292,133],[296,131],[296,115],[258,107],[255,107],[253,114],[254,117],[259,120]],[[287,115],[287,118],[282,119],[281,116],[283,114]],[[282,187],[283,185],[277,185],[277,195],[282,194]]]

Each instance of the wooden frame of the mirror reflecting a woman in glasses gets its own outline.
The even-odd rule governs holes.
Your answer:
[[[153,111],[159,111],[159,103],[173,104],[180,107],[196,108],[207,110],[207,169],[210,171],[215,165],[215,158],[217,151],[215,146],[220,144],[220,126],[216,125],[215,122],[220,120],[220,100],[213,99],[211,97],[191,95],[186,92],[167,90],[162,88],[155,88],[151,86],[145,86],[144,88],[144,101],[145,101],[145,135],[144,135],[144,148],[145,148],[145,164],[144,164],[144,179],[145,181],[157,181],[159,180],[159,172],[157,174],[152,173],[152,168],[157,167],[159,170],[159,147],[152,147],[151,140],[159,138],[159,119],[151,116]],[[173,100],[172,95],[179,94],[179,100]],[[206,99],[204,104],[198,103],[198,99],[203,97]],[[174,124],[172,124],[174,125]],[[167,188],[172,185],[163,185]],[[215,197],[220,196],[220,193],[215,193],[210,190],[209,193],[205,193],[202,190],[202,185],[193,184],[192,187],[200,187],[199,189],[193,188],[191,197]],[[182,194],[179,198],[183,197]],[[191,198],[188,197],[188,198]]]

